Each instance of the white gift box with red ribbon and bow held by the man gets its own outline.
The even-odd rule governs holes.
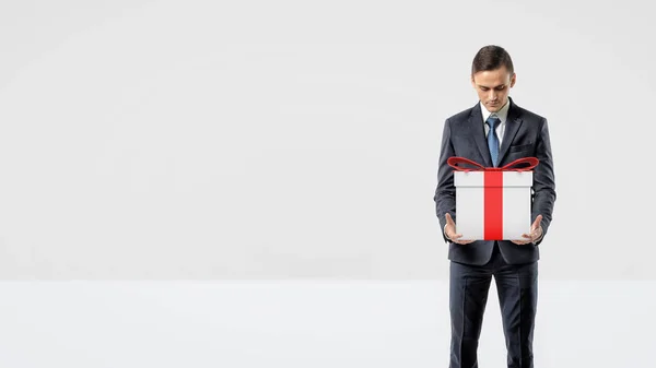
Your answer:
[[[455,169],[460,240],[525,240],[522,234],[529,234],[531,225],[531,169],[538,158],[519,158],[503,167],[483,167],[464,157],[449,157],[447,163]],[[528,166],[517,167],[523,164]]]

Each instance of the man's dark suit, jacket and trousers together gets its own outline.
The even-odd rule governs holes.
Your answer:
[[[555,180],[547,119],[517,106],[508,97],[505,131],[499,164],[535,156],[531,224],[542,215],[542,238],[528,245],[508,240],[477,240],[468,245],[449,242],[449,304],[452,310],[450,367],[478,367],[477,348],[491,277],[494,276],[508,349],[508,367],[532,367],[532,330],[537,306],[539,248],[549,230],[555,202]],[[441,229],[448,212],[456,224],[456,188],[447,159],[461,156],[493,166],[485,139],[480,104],[446,119],[442,135],[436,213]],[[527,229],[528,232],[528,229]],[[443,234],[444,240],[448,241]]]

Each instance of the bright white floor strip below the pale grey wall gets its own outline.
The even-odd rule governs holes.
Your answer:
[[[495,288],[480,367],[504,367]],[[438,281],[1,282],[0,367],[448,366]],[[537,368],[656,367],[656,282],[540,281]]]

